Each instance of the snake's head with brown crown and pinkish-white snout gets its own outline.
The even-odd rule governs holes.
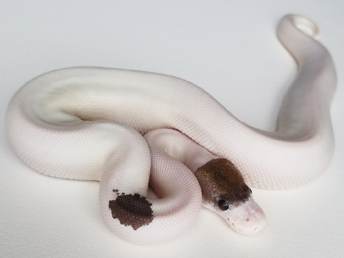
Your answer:
[[[203,205],[218,213],[236,232],[250,235],[266,224],[240,171],[227,159],[213,159],[196,171]]]

